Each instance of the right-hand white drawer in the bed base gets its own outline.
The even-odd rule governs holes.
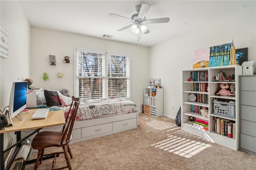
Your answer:
[[[137,128],[137,119],[127,119],[124,121],[113,122],[113,132],[121,132],[124,130],[130,130]]]

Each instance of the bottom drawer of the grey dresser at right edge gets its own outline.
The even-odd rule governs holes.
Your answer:
[[[256,138],[246,134],[240,135],[240,148],[250,150],[256,153]]]

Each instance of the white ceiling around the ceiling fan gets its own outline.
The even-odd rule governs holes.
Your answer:
[[[146,24],[149,34],[138,36],[130,29],[117,30],[131,24],[125,18],[110,17],[114,13],[126,18],[135,14],[136,5],[151,5],[146,19],[169,17],[164,24]],[[101,38],[103,34],[112,35],[108,40],[152,46],[170,40],[187,32],[204,28],[218,20],[241,12],[255,14],[254,1],[183,1],[183,0],[20,0],[31,26],[60,30]],[[255,16],[252,16],[255,17]],[[106,39],[106,38],[105,38]]]

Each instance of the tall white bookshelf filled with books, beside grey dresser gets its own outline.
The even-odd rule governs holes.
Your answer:
[[[214,81],[214,77],[225,73],[232,77],[233,81]],[[207,67],[182,71],[182,129],[206,138],[233,150],[238,150],[239,145],[239,75],[242,75],[242,66],[227,65],[220,67]],[[188,79],[193,78],[193,81]],[[221,77],[220,77],[221,78]],[[220,83],[234,84],[236,89],[235,96],[218,96],[216,91],[220,89]],[[196,101],[189,101],[188,96],[194,94]],[[235,116],[214,115],[214,100],[235,101]],[[200,109],[208,110],[208,117],[200,114]],[[195,125],[191,120],[201,119],[208,122],[207,128]],[[218,134],[216,130],[216,119],[225,119],[227,123],[234,123],[234,136],[232,138]],[[233,124],[232,124],[233,125]],[[231,128],[231,127],[230,127]],[[233,132],[233,131],[232,131]]]

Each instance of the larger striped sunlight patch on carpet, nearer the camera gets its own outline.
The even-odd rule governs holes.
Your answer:
[[[154,143],[151,146],[172,152],[185,158],[191,158],[212,145],[170,135],[167,139]]]

